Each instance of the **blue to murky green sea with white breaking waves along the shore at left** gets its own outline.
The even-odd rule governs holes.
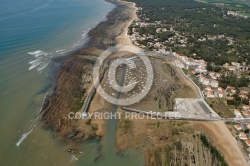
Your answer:
[[[51,58],[82,46],[113,8],[104,0],[0,0],[1,166],[81,160],[41,129],[36,117],[52,84]]]

